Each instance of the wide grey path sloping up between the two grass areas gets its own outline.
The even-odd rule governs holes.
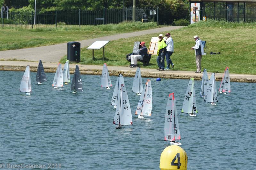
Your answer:
[[[162,28],[155,28],[146,31],[136,31],[131,33],[122,33],[116,35],[109,35],[105,37],[99,37],[95,39],[78,41],[81,43],[81,48],[91,45],[97,40],[118,40],[120,38],[129,38],[137,35],[146,35],[151,33],[167,33],[171,30],[182,28],[183,26],[167,26]],[[67,43],[55,44],[50,46],[41,46],[33,48],[24,48],[17,50],[0,51],[1,59],[17,59],[17,60],[28,60],[28,61],[39,61],[40,59],[44,62],[59,62],[60,59],[67,55]]]

